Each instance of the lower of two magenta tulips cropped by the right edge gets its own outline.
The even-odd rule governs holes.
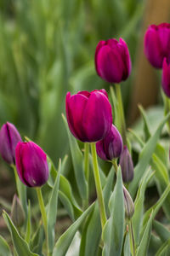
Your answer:
[[[167,97],[170,97],[170,62],[167,61],[167,58],[164,58],[162,68],[163,68],[162,77],[161,77],[162,89],[167,95]]]

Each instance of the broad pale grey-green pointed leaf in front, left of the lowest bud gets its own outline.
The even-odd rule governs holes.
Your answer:
[[[115,189],[109,202],[111,217],[103,231],[103,256],[120,256],[124,236],[124,195],[122,190],[122,172],[119,166]]]

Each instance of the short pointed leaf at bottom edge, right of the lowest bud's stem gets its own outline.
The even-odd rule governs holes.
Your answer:
[[[147,255],[149,242],[150,242],[150,233],[151,233],[152,220],[153,220],[153,212],[151,212],[151,214],[150,214],[149,221],[148,221],[148,223],[146,225],[146,228],[144,230],[144,235],[142,236],[139,247],[137,248],[136,256],[145,256],[145,255]]]

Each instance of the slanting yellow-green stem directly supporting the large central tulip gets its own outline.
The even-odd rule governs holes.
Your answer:
[[[107,221],[107,218],[106,218],[106,213],[105,213],[104,197],[103,197],[101,182],[100,182],[100,177],[99,177],[99,167],[98,167],[95,143],[91,143],[91,150],[92,150],[92,158],[93,158],[93,166],[94,166],[95,187],[96,187],[98,201],[99,201],[99,214],[100,214],[101,226],[102,226],[102,230],[103,230],[105,223]]]

